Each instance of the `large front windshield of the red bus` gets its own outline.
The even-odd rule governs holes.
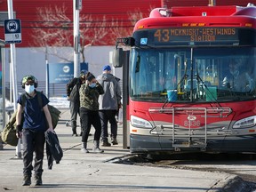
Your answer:
[[[132,48],[130,96],[154,102],[255,100],[255,47]]]

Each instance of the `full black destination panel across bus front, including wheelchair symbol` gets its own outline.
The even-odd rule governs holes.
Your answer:
[[[252,28],[154,28],[133,34],[135,44],[148,46],[253,45]]]

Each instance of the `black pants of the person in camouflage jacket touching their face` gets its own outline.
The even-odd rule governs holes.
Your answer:
[[[91,126],[95,128],[94,140],[100,140],[101,124],[99,111],[80,108],[81,128],[83,129],[82,142],[87,142]]]

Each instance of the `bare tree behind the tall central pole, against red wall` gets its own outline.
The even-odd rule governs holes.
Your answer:
[[[67,8],[55,6],[37,8],[37,22],[32,35],[34,44],[41,47],[45,52],[45,47],[72,47],[73,46],[73,22],[68,18]],[[102,39],[108,34],[108,22],[105,17],[92,20],[92,15],[80,14],[80,52],[82,61],[84,58],[84,48],[95,43],[106,44]],[[100,28],[99,28],[100,23]],[[50,49],[48,54],[59,57],[62,60],[71,61],[73,52],[57,52],[57,49]]]

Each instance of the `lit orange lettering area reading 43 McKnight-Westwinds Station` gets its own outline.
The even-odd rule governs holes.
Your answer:
[[[155,44],[238,42],[236,28],[159,28],[154,30]]]

